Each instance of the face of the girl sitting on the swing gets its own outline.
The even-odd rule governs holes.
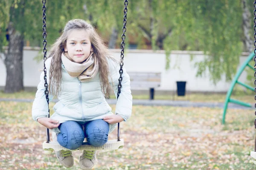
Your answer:
[[[81,63],[86,60],[93,51],[87,31],[75,29],[67,37],[67,44],[64,48],[74,62]]]

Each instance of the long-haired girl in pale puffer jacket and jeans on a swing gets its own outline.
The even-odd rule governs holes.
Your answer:
[[[120,66],[110,56],[93,26],[84,20],[70,20],[51,49],[45,62],[49,101],[57,96],[59,102],[48,118],[43,72],[32,106],[33,119],[57,133],[58,143],[67,149],[76,150],[84,138],[95,147],[102,146],[108,141],[108,134],[116,123],[127,121],[131,116],[128,74],[123,68],[121,94],[113,114],[105,96],[110,94],[111,88],[117,95]],[[70,150],[55,152],[65,167],[74,164]],[[79,164],[81,169],[90,170],[95,161],[96,151],[84,150]]]

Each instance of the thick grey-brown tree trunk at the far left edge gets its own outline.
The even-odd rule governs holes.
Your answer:
[[[6,5],[8,2],[4,2],[2,5]],[[2,8],[4,8],[2,6]],[[20,8],[17,8],[20,6]],[[20,31],[15,30],[15,21],[24,17],[25,1],[20,0],[17,3],[10,4],[9,7],[9,22],[6,30],[8,31],[9,48],[8,52],[4,53],[4,64],[6,65],[6,92],[20,91],[23,89],[23,69],[22,69],[22,48],[24,40],[24,27],[20,28]],[[4,10],[7,10],[6,8]],[[3,31],[2,31],[3,32]],[[3,37],[3,36],[2,36]]]

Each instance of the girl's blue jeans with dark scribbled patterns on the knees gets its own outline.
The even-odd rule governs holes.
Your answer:
[[[58,143],[70,150],[79,148],[84,138],[94,147],[100,147],[108,142],[109,124],[102,119],[90,122],[67,121],[61,123],[58,127],[61,133],[58,133]]]

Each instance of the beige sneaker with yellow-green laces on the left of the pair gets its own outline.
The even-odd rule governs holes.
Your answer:
[[[56,151],[56,156],[58,161],[64,166],[64,167],[72,167],[74,164],[74,157],[71,150],[59,150]]]

